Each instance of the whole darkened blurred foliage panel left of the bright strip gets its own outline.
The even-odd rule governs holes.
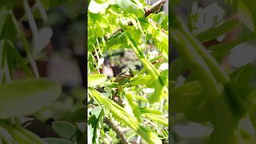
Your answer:
[[[84,143],[83,0],[0,1],[0,142]]]

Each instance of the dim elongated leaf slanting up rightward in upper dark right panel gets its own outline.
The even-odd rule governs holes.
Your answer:
[[[206,42],[214,38],[218,38],[218,36],[221,36],[222,34],[226,34],[230,32],[230,30],[233,30],[234,27],[238,26],[238,24],[238,20],[230,20],[229,22],[225,22],[220,26],[212,27],[200,34],[197,34],[197,38],[200,40],[200,42]]]

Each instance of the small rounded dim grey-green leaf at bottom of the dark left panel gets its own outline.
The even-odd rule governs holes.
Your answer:
[[[52,128],[59,136],[66,139],[73,138],[74,134],[78,130],[76,126],[64,121],[53,122]]]

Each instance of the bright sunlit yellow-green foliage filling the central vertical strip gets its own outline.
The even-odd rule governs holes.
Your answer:
[[[168,16],[163,12],[156,14],[158,10],[153,9],[152,14],[146,14],[150,8],[146,2],[137,0],[90,1],[88,139],[92,143],[110,143],[116,136],[122,143],[134,142],[136,138],[147,143],[162,143],[168,138],[168,109],[163,108],[168,107],[168,70],[160,68],[168,63]],[[150,45],[160,54],[146,53]],[[106,81],[102,80],[103,76],[96,77],[102,75],[100,70],[107,64],[101,62],[104,55],[119,49],[132,50],[142,69],[123,71]],[[106,118],[110,121],[105,121]],[[119,124],[113,127],[112,122]],[[125,127],[131,130],[119,131]],[[110,137],[111,129],[116,134]]]

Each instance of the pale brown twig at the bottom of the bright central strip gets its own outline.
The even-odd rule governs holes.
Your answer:
[[[118,122],[114,122],[113,120],[110,120],[109,118],[104,118],[104,122],[110,126],[112,130],[118,135],[118,138],[120,138],[120,142],[122,144],[128,144],[129,142],[126,140],[124,136],[124,132],[121,129],[121,126],[119,126]]]

